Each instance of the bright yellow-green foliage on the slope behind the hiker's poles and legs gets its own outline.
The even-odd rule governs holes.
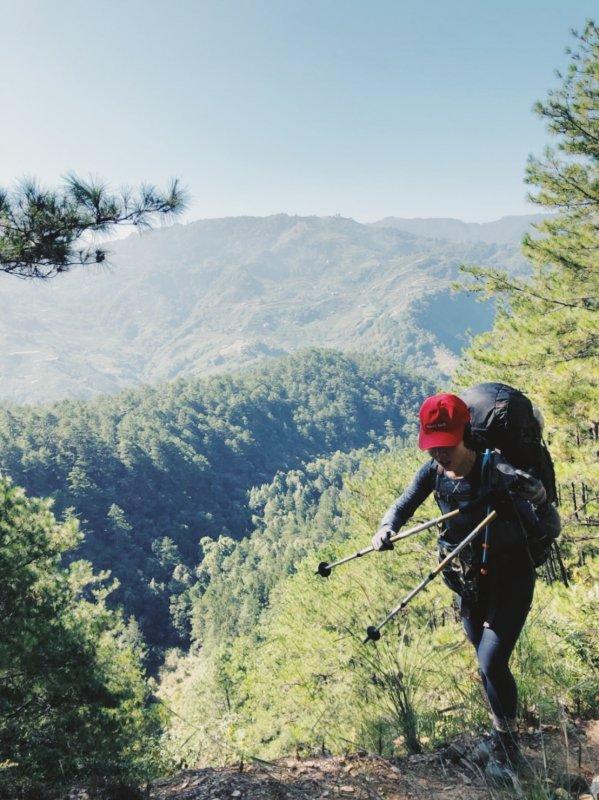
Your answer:
[[[421,460],[407,448],[362,458],[359,470],[354,467],[353,476],[335,489],[328,524],[327,506],[317,498],[306,508],[313,473],[294,474],[288,484],[279,481],[285,490],[276,502],[270,495],[272,505],[259,518],[251,546],[238,545],[222,558],[200,600],[201,614],[212,626],[206,631],[209,646],[188,656],[172,653],[162,671],[161,696],[178,715],[169,726],[173,757],[191,765],[323,749],[392,755],[418,752],[464,729],[488,725],[474,651],[453,595],[440,580],[384,629],[376,647],[363,644],[367,625],[380,621],[435,562],[435,531],[406,540],[392,553],[353,561],[328,580],[314,575],[319,560],[369,542],[382,511]],[[291,493],[298,479],[303,490]],[[323,498],[331,488],[323,487]],[[414,521],[435,513],[429,499]],[[328,531],[326,545],[316,518]],[[246,618],[243,625],[231,626],[211,613],[211,607],[227,604],[233,584],[232,609],[251,604],[251,576],[260,574],[262,560],[273,563],[279,532],[284,542],[296,535],[303,556],[294,574],[277,576],[255,624]],[[564,707],[596,713],[599,650],[588,629],[597,610],[596,563],[590,559],[584,567],[572,567],[573,589],[538,583],[513,659],[520,712],[530,722],[539,715],[555,721]],[[235,576],[231,582],[225,577],[228,566]],[[198,632],[203,643],[204,631]]]

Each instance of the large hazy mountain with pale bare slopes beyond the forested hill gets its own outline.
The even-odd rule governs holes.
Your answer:
[[[494,224],[505,239],[507,223]],[[439,241],[286,214],[175,225],[111,250],[110,270],[46,284],[0,276],[0,398],[87,398],[306,346],[375,349],[447,374],[464,331],[489,327],[493,313],[450,296],[458,265],[525,269],[515,236]]]

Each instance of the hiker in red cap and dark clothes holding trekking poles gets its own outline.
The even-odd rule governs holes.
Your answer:
[[[497,518],[486,535],[482,532],[442,574],[461,598],[462,623],[476,650],[492,711],[498,759],[505,767],[521,770],[517,689],[509,659],[530,610],[535,585],[527,532],[542,539],[547,526],[552,526],[551,538],[555,538],[559,517],[547,502],[540,480],[516,471],[498,451],[483,455],[476,448],[468,406],[457,395],[427,398],[419,416],[418,444],[431,459],[389,508],[372,545],[379,551],[392,549],[389,538],[433,492],[443,514],[456,508],[462,511],[447,521],[439,539],[443,557],[485,518],[489,507],[496,510]]]

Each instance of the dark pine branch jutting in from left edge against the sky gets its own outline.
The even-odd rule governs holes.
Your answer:
[[[178,181],[166,192],[142,186],[111,194],[105,185],[69,175],[58,190],[23,181],[15,191],[0,189],[0,272],[18,278],[51,278],[74,266],[101,264],[103,247],[84,237],[107,234],[115,226],[149,227],[153,218],[185,208]]]

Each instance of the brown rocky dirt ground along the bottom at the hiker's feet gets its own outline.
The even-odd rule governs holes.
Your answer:
[[[536,779],[493,785],[477,764],[481,740],[456,739],[436,752],[387,760],[352,754],[254,762],[224,769],[185,770],[157,781],[152,800],[597,800],[599,721],[544,726],[522,736],[522,749]]]

